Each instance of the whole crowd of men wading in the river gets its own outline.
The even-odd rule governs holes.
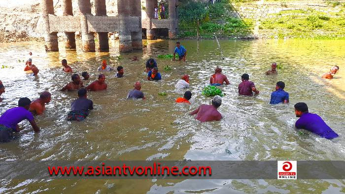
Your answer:
[[[186,60],[186,49],[180,45],[180,42],[176,42],[176,48],[173,53],[173,60],[175,59],[175,54],[178,54],[179,61]],[[32,55],[30,52],[29,55]],[[138,61],[136,56],[133,57],[132,61]],[[63,66],[63,71],[66,73],[73,73],[72,68],[68,65],[67,60],[61,61]],[[276,75],[278,72],[276,70],[276,63],[273,63],[271,69],[266,71],[267,75]],[[32,59],[28,59],[24,71],[31,70],[34,75],[39,72],[38,68],[32,64]],[[107,65],[106,60],[102,61],[102,65],[98,67],[98,71],[111,71],[114,70],[113,67]],[[118,66],[116,68],[117,78],[122,78],[124,76],[124,68]],[[147,73],[147,80],[161,80],[162,76],[158,70],[157,61],[150,58],[146,61],[145,70]],[[339,66],[335,65],[331,68],[330,72],[325,73],[322,78],[332,79],[334,75],[339,70]],[[88,72],[84,71],[81,73],[83,80],[88,80],[90,75]],[[247,73],[242,74],[242,82],[238,86],[239,95],[243,96],[253,96],[260,93],[256,89],[255,84],[249,81],[249,75]],[[222,73],[221,67],[217,66],[214,69],[214,74],[209,78],[209,85],[221,86],[223,84],[230,84],[226,75]],[[179,79],[175,85],[176,89],[188,89],[189,88],[189,75],[184,74],[181,79]],[[284,91],[285,83],[278,81],[276,83],[276,91],[272,92],[270,104],[278,103],[289,103],[289,94]],[[78,74],[71,75],[71,82],[64,86],[60,91],[77,91],[78,98],[71,103],[71,109],[67,115],[68,121],[83,121],[93,109],[93,101],[87,98],[87,92],[91,91],[101,91],[106,90],[107,84],[105,83],[105,75],[100,73],[98,75],[98,80],[92,82],[88,86],[84,87],[83,82],[80,80]],[[140,91],[141,83],[137,81],[134,84],[134,89],[129,91],[127,99],[143,99],[145,100],[144,93]],[[0,81],[0,96],[4,93],[4,86]],[[183,97],[178,97],[176,103],[190,103],[192,93],[186,91]],[[18,124],[27,119],[32,125],[35,132],[39,131],[39,127],[35,123],[33,115],[43,114],[45,110],[45,104],[49,103],[51,100],[51,94],[47,91],[42,92],[38,99],[31,101],[27,97],[22,97],[18,101],[18,107],[10,108],[6,110],[0,116],[0,142],[6,142],[13,139],[13,132],[19,132],[22,130]],[[2,99],[0,98],[0,102]],[[202,104],[194,111],[190,112],[190,115],[196,115],[195,119],[200,122],[208,121],[219,121],[222,119],[221,113],[217,110],[222,104],[222,97],[214,96],[212,98],[211,104]],[[307,129],[313,133],[320,135],[321,137],[332,139],[338,137],[338,134],[334,132],[317,114],[309,113],[308,106],[304,102],[299,102],[294,105],[296,117],[299,117],[295,126],[298,129]]]

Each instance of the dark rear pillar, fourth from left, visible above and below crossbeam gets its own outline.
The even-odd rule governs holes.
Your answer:
[[[105,0],[95,0],[96,16],[106,16]],[[99,51],[109,51],[108,32],[98,32]]]

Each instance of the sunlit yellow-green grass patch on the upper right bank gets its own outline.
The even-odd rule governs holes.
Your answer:
[[[312,9],[281,11],[262,21],[259,29],[268,38],[345,39],[344,10],[335,15]]]

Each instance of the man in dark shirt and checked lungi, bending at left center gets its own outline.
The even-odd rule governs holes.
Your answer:
[[[78,90],[78,98],[71,104],[71,111],[67,116],[68,121],[82,121],[94,109],[93,102],[87,99],[87,91],[85,88]]]

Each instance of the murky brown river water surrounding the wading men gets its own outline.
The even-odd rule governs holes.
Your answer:
[[[146,41],[145,41],[146,42]],[[221,59],[215,40],[183,40],[186,62],[157,60],[162,73],[159,82],[147,81],[144,63],[149,57],[173,52],[174,41],[148,41],[141,52],[122,54],[118,42],[110,42],[109,53],[65,51],[45,53],[43,43],[0,44],[0,80],[6,93],[0,114],[17,105],[20,97],[34,100],[42,91],[52,93],[44,115],[37,116],[41,132],[34,134],[28,122],[15,140],[0,144],[0,160],[344,160],[345,159],[345,41],[344,40],[221,40]],[[80,42],[77,42],[80,48]],[[78,47],[77,46],[77,47]],[[37,77],[23,72],[33,52]],[[132,56],[140,61],[131,62]],[[75,92],[60,92],[70,81],[60,61],[67,59],[74,72],[88,71],[88,85],[96,80],[102,60],[122,65],[125,77],[105,73],[108,89],[90,92],[94,108],[84,122],[67,122]],[[272,62],[282,64],[277,76],[264,72]],[[163,66],[171,65],[172,71]],[[219,108],[220,122],[200,123],[188,112],[210,98],[201,95],[216,65],[228,76],[229,86]],[[321,79],[332,65],[340,71],[333,80]],[[192,105],[176,104],[185,90],[174,85],[184,73],[190,75]],[[258,96],[237,94],[241,75],[248,73],[260,91]],[[147,100],[126,100],[135,81]],[[290,104],[270,105],[276,82],[285,82]],[[166,92],[167,96],[159,96]],[[336,142],[314,134],[299,134],[293,105],[306,102],[310,112],[319,114],[340,137]],[[113,185],[114,184],[114,185]],[[110,185],[110,186],[109,186]],[[345,192],[344,180],[2,180],[0,193],[338,193]]]

